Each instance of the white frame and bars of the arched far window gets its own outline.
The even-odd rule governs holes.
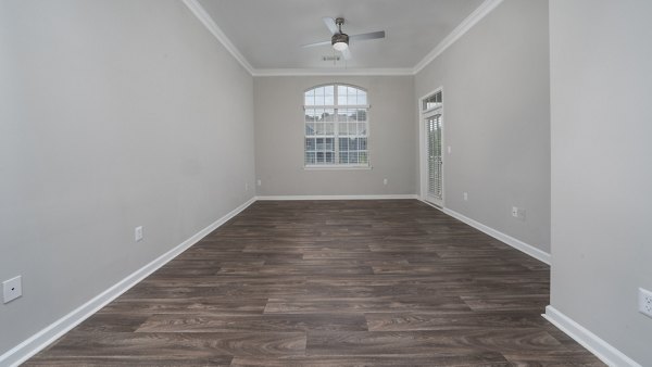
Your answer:
[[[372,163],[371,163],[371,124],[369,124],[369,110],[371,110],[371,104],[368,103],[369,100],[369,93],[365,88],[362,88],[360,86],[355,86],[355,85],[351,85],[351,84],[346,84],[346,83],[328,83],[328,84],[321,84],[317,86],[313,86],[310,87],[308,89],[305,89],[301,96],[303,103],[305,103],[305,92],[311,91],[313,89],[316,88],[321,88],[321,87],[327,87],[327,86],[333,86],[334,88],[334,101],[336,104],[330,104],[330,105],[308,105],[308,104],[303,104],[303,111],[305,112],[305,110],[315,110],[315,109],[319,109],[319,110],[333,110],[334,111],[334,131],[333,131],[333,136],[334,136],[334,144],[335,144],[335,159],[339,161],[339,139],[343,138],[340,137],[338,135],[339,132],[339,121],[338,121],[338,116],[339,114],[337,113],[338,110],[365,110],[365,115],[366,115],[366,163],[336,163],[336,164],[306,164],[305,162],[305,139],[306,138],[323,138],[326,139],[326,137],[324,136],[308,136],[305,135],[305,113],[303,114],[303,149],[302,149],[302,153],[303,153],[303,169],[306,170],[311,170],[311,169],[372,169]],[[338,87],[351,87],[351,88],[355,88],[358,90],[362,90],[365,92],[366,94],[366,100],[367,100],[367,104],[337,104],[338,102]]]

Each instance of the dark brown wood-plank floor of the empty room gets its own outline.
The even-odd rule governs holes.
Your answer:
[[[263,201],[27,366],[603,366],[550,269],[415,200]]]

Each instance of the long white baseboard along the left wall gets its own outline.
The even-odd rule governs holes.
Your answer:
[[[68,332],[75,326],[90,317],[92,314],[104,307],[111,301],[118,298],[121,294],[136,286],[139,281],[147,278],[150,274],[154,273],[161,266],[167,264],[171,260],[176,257],[188,248],[199,242],[206,235],[215,230],[217,227],[225,224],[228,219],[236,216],[238,213],[246,210],[249,205],[255,202],[255,198],[251,198],[242,205],[236,207],[228,214],[224,215],[220,219],[212,223],[206,228],[200,230],[179,245],[159,256],[156,260],[134,271],[113,287],[103,291],[102,293],[95,296],[92,300],[86,302],[75,311],[63,316],[59,320],[52,322],[50,326],[35,333],[21,344],[9,350],[7,353],[0,355],[0,366],[18,366],[20,364],[27,360],[29,357],[48,346],[50,343],[61,338],[64,333]]]

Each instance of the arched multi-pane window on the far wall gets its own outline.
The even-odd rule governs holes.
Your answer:
[[[348,85],[318,86],[305,92],[306,167],[368,167],[365,90]]]

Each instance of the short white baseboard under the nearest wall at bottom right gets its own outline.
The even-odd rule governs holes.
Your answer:
[[[541,316],[543,316],[543,318],[550,321],[550,324],[554,325],[557,329],[565,332],[568,337],[573,338],[589,352],[593,353],[598,358],[600,358],[600,360],[604,362],[609,366],[641,367],[641,365],[629,358],[623,352],[618,351],[616,347],[605,342],[597,334],[577,324],[570,317],[562,314],[553,306],[547,306],[546,314]]]

